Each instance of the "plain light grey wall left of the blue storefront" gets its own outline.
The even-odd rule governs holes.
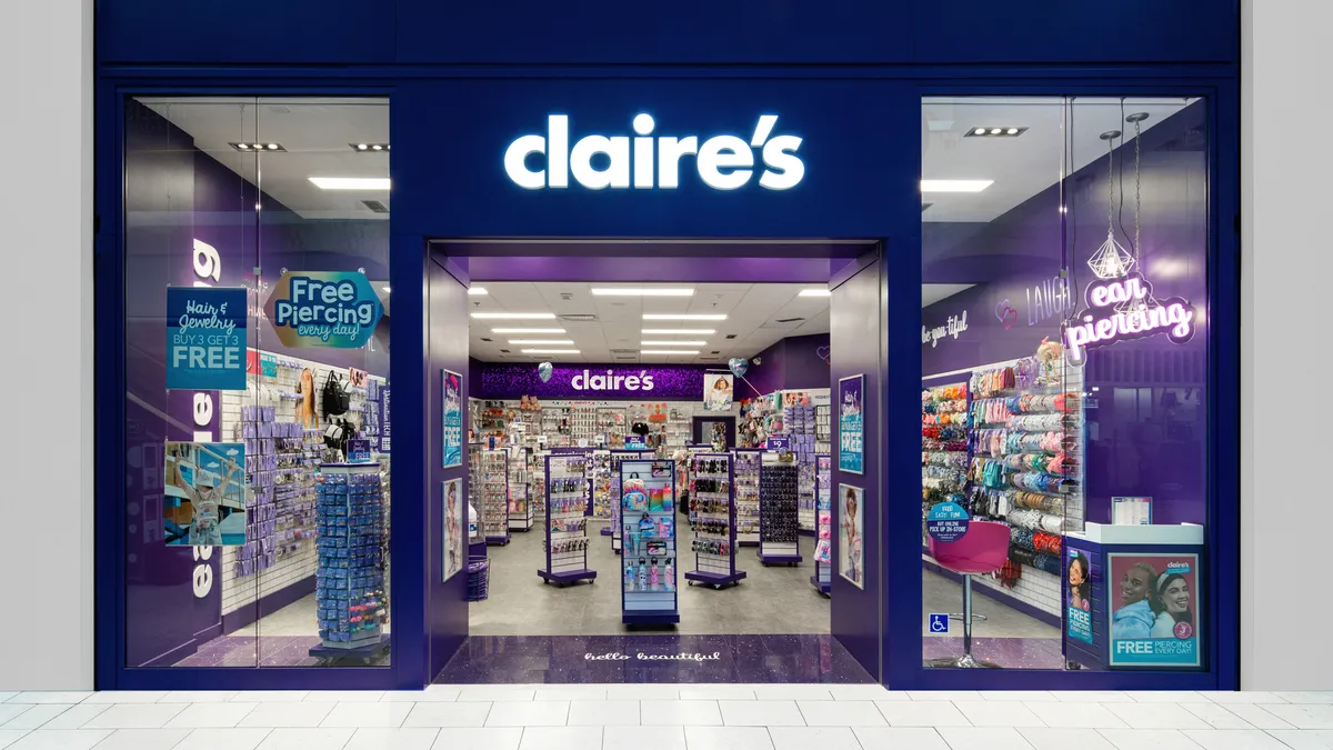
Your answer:
[[[24,3],[7,16],[0,690],[89,689],[92,0]]]

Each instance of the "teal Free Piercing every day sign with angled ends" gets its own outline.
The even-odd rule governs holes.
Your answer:
[[[285,271],[264,312],[283,346],[361,348],[384,303],[360,271]]]

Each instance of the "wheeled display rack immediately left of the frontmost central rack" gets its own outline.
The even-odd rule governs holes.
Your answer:
[[[547,567],[537,575],[545,583],[564,586],[593,581],[588,570],[588,456],[553,454],[547,456]]]

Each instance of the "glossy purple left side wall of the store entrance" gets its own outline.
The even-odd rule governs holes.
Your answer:
[[[429,675],[440,674],[449,658],[463,646],[468,637],[468,573],[467,567],[449,581],[444,577],[444,490],[443,482],[463,479],[463,498],[468,496],[467,459],[461,467],[441,468],[441,444],[444,435],[444,382],[440,370],[451,370],[463,375],[463,403],[467,403],[472,387],[468,362],[468,290],[451,276],[435,256],[425,259],[428,302],[427,315],[427,392],[429,404],[427,414],[427,647],[429,651]],[[463,431],[469,428],[468,412],[463,414]],[[467,522],[464,522],[467,528]]]

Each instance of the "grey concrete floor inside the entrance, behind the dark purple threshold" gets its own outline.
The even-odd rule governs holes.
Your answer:
[[[597,571],[596,583],[581,582],[564,589],[543,583],[537,569],[545,565],[541,526],[513,534],[504,547],[489,547],[489,598],[469,607],[471,635],[619,635],[620,558],[611,551],[611,538],[600,535],[604,522],[589,527],[593,539],[588,567]],[[693,570],[688,552],[692,534],[688,524],[677,526],[677,550],[682,551],[676,578]],[[677,634],[818,634],[829,631],[829,601],[810,585],[814,573],[814,539],[801,536],[805,562],[796,567],[765,567],[753,547],[737,550],[736,567],[748,575],[738,586],[713,590],[680,586]]]

